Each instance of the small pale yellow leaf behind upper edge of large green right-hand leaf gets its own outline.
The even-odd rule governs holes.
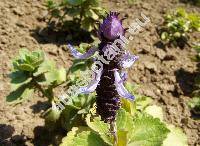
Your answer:
[[[154,118],[159,118],[161,121],[164,120],[163,110],[160,106],[157,105],[148,106],[144,112],[153,116]]]

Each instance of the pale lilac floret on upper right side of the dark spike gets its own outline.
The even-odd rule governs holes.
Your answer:
[[[123,68],[129,68],[133,65],[133,63],[139,58],[139,56],[131,55],[130,52],[126,52],[123,55],[123,58],[121,60],[121,66]]]

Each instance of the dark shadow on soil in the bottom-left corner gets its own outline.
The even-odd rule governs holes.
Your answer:
[[[25,146],[25,135],[13,135],[14,132],[13,126],[0,124],[0,146]]]

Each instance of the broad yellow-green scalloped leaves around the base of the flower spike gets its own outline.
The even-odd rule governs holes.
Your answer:
[[[135,93],[135,86],[128,83],[127,89]],[[116,117],[116,146],[188,146],[187,137],[180,128],[164,122],[162,108],[152,105],[150,97],[137,95],[134,102],[121,99],[122,108]],[[63,138],[60,146],[113,146],[114,138],[108,123],[96,116],[92,108],[86,124],[73,127]]]

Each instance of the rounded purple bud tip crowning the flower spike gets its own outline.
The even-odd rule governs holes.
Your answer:
[[[118,15],[119,13],[117,12],[110,12],[103,20],[103,23],[100,24],[99,35],[101,39],[103,37],[112,41],[117,39],[120,35],[124,35],[124,28]]]

